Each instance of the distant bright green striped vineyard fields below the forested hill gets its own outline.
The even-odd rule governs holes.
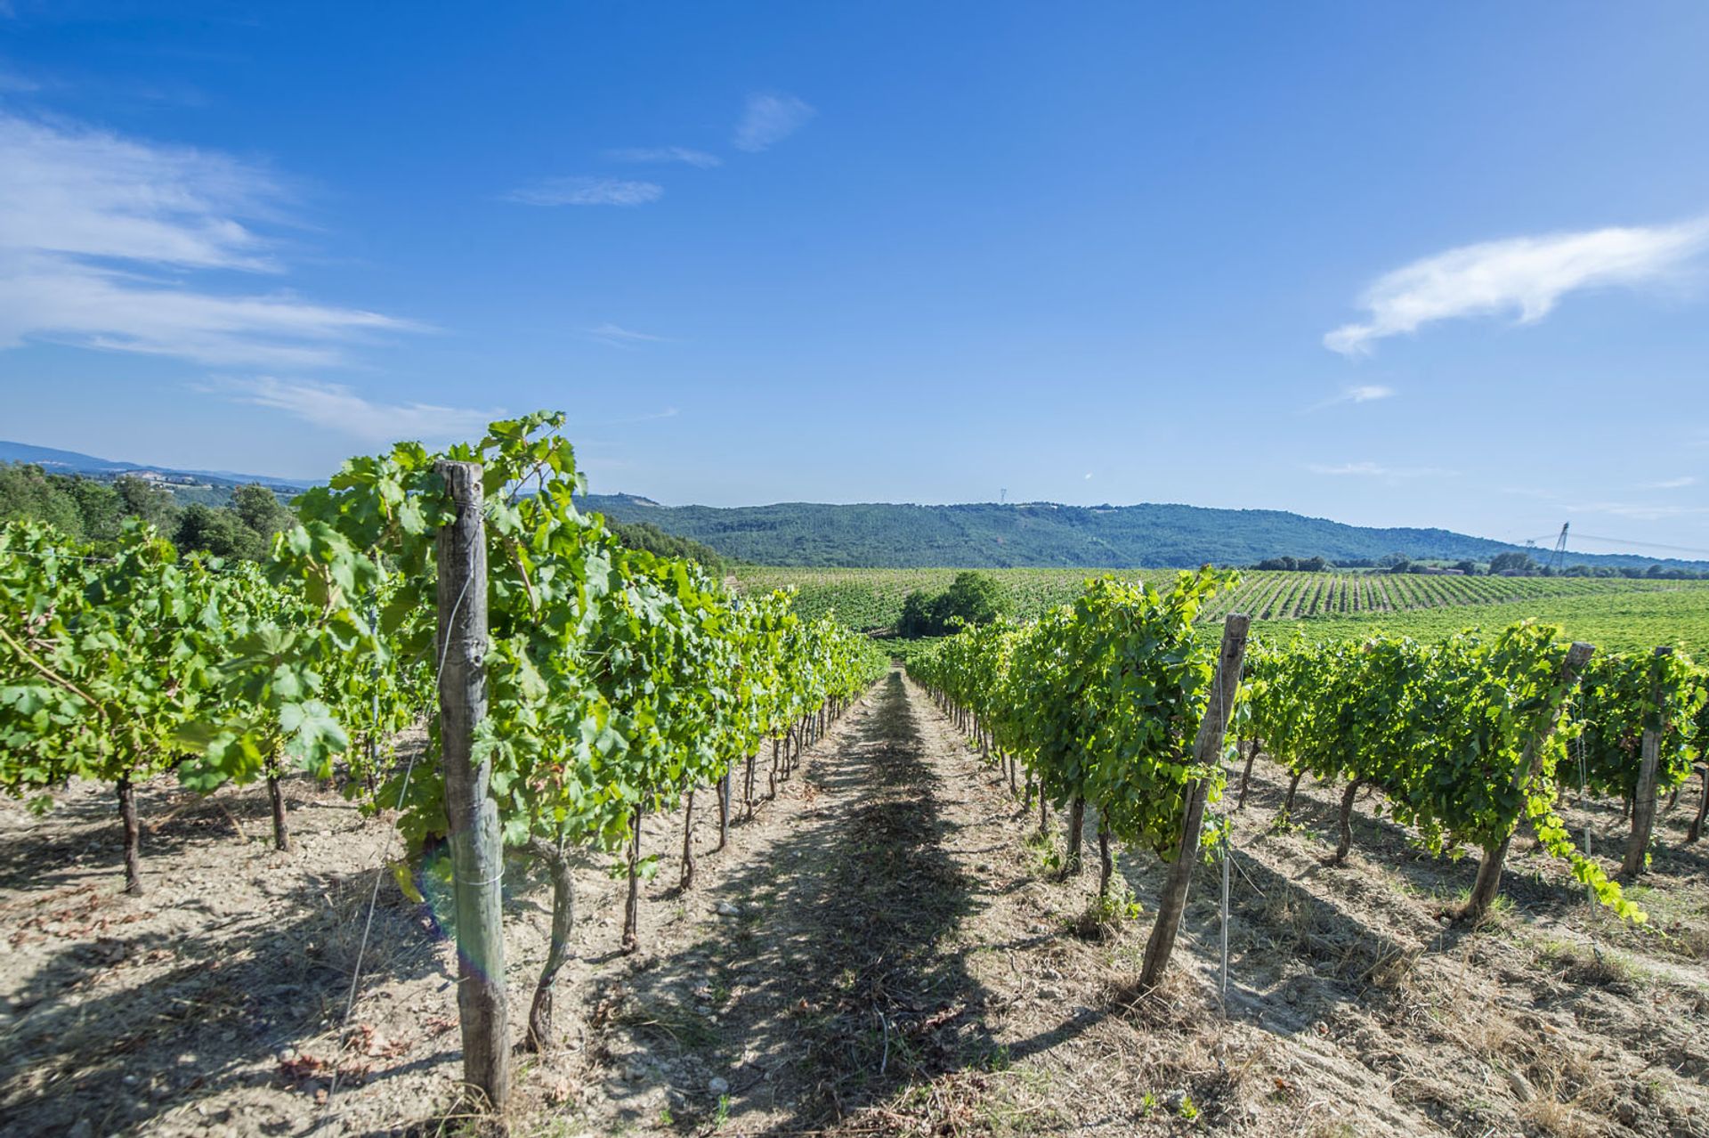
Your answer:
[[[913,590],[942,591],[957,569],[769,569],[737,571],[747,591],[796,590],[803,615],[836,612],[877,632],[896,624]],[[1072,600],[1095,569],[984,569],[1010,596],[1017,617]],[[1114,576],[1164,583],[1174,569],[1113,569]],[[1379,572],[1244,572],[1207,617],[1246,612],[1268,636],[1336,637],[1381,629],[1441,636],[1524,617],[1562,624],[1606,649],[1682,642],[1709,654],[1709,581],[1622,578],[1453,578]]]

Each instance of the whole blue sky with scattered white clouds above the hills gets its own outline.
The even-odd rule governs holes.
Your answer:
[[[1709,548],[1709,7],[0,3],[0,437]],[[1579,548],[1606,552],[1606,542]]]

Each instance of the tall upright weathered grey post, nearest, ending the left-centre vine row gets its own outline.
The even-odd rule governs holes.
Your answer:
[[[463,1080],[502,1111],[511,1097],[509,1017],[499,900],[504,849],[499,808],[487,793],[490,764],[473,764],[475,728],[487,714],[487,535],[480,463],[441,460],[456,518],[439,530],[439,740],[456,904],[456,1008]]]

